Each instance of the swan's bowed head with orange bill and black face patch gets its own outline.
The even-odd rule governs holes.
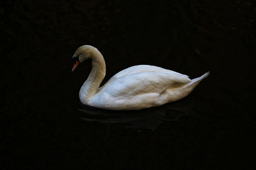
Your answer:
[[[92,57],[92,52],[95,50],[95,47],[90,45],[83,45],[77,48],[74,53],[72,60],[74,61],[74,66],[72,67],[72,71],[76,69],[76,67],[82,63],[84,60],[90,59]]]

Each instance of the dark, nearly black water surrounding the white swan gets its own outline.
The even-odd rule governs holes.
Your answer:
[[[0,15],[3,169],[253,169],[255,1],[6,1]],[[90,62],[71,73],[71,57],[85,44],[103,83],[137,64],[211,74],[159,108],[84,108]]]

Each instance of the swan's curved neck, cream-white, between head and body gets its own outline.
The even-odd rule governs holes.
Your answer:
[[[79,98],[83,104],[87,104],[90,98],[97,94],[105,74],[105,60],[99,50],[95,48],[92,50],[92,71],[79,91]]]

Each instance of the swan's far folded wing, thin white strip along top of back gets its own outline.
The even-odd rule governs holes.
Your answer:
[[[170,73],[170,74],[179,74],[179,75],[188,77],[185,74],[180,74],[180,73],[172,71],[170,69],[163,69],[161,67],[150,66],[150,65],[138,65],[138,66],[128,67],[127,69],[124,69],[124,70],[116,73],[110,80],[113,80],[113,79],[121,77],[121,76],[135,74],[135,73],[142,73],[142,72]]]

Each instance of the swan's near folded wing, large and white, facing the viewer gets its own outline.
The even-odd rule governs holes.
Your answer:
[[[113,97],[132,97],[146,93],[161,94],[173,83],[189,83],[182,74],[143,72],[128,74],[108,81],[99,93],[106,92]]]

